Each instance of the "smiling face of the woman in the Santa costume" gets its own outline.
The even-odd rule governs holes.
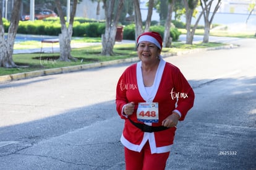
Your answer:
[[[161,53],[161,49],[159,49],[154,43],[141,41],[138,45],[137,53],[142,62],[145,64],[151,64],[159,60],[158,56]]]

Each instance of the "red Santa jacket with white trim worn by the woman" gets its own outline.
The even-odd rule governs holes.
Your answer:
[[[148,141],[151,153],[164,153],[171,150],[176,127],[159,132],[142,132],[127,119],[127,116],[122,113],[122,109],[125,104],[133,101],[135,103],[135,111],[129,118],[134,122],[139,122],[136,114],[138,103],[146,101],[157,102],[158,123],[145,124],[160,126],[161,122],[174,110],[181,114],[179,121],[183,121],[194,104],[194,91],[181,71],[163,59],[160,59],[151,89],[151,93],[148,94],[143,85],[141,62],[129,66],[119,78],[116,87],[116,109],[119,116],[125,119],[121,142],[130,150],[141,151]]]

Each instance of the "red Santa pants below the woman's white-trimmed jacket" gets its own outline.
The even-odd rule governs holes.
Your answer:
[[[124,156],[126,170],[164,170],[169,152],[151,154],[150,145],[147,142],[140,152],[125,147]]]

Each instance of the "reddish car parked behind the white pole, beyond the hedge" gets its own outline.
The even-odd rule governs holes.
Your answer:
[[[58,15],[54,11],[49,9],[35,10],[35,20],[43,20],[48,17],[58,17]],[[30,20],[30,15],[29,14],[22,15],[21,20]]]

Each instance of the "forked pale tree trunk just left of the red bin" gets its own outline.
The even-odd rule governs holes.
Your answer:
[[[114,12],[114,3],[118,2],[118,7],[116,11],[116,15],[113,16]],[[114,55],[114,43],[116,39],[116,30],[117,23],[119,21],[119,17],[121,15],[122,7],[124,6],[124,0],[116,1],[109,0],[108,3],[103,1],[105,7],[105,15],[106,15],[106,28],[105,34],[101,36],[102,40],[102,51],[101,54],[105,56],[113,56]]]

